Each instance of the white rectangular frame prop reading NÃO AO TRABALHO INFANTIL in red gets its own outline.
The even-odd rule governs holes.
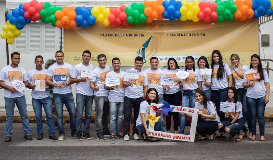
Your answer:
[[[152,105],[157,106],[158,108],[162,106],[162,104],[156,104],[156,103],[151,103],[151,106]],[[183,112],[183,113],[192,114],[190,134],[185,135],[185,134],[174,134],[174,133],[167,133],[167,132],[161,132],[161,131],[154,131],[154,127],[149,123],[149,131],[151,136],[168,139],[168,140],[194,142],[197,119],[198,119],[198,114],[197,114],[198,109],[182,107],[182,106],[173,106],[173,105],[171,105],[170,107],[174,108],[172,112]],[[156,114],[155,110],[152,107],[150,109],[150,115],[151,114],[153,115]]]

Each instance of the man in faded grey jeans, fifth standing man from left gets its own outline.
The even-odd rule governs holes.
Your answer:
[[[97,131],[97,139],[105,140],[105,136],[110,136],[108,129],[108,115],[109,115],[109,90],[104,89],[104,82],[106,74],[110,72],[110,67],[106,65],[107,59],[104,54],[98,55],[98,63],[94,69],[94,78],[91,79],[90,87],[94,90],[95,100],[95,125]],[[102,126],[101,126],[102,124]]]

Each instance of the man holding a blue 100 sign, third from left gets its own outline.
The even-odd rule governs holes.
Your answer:
[[[57,60],[48,68],[46,74],[46,84],[53,87],[53,98],[57,114],[57,125],[60,137],[58,140],[64,140],[63,109],[64,104],[69,112],[71,137],[76,136],[76,107],[72,94],[70,78],[73,72],[71,64],[64,62],[64,52],[57,51],[55,54]]]

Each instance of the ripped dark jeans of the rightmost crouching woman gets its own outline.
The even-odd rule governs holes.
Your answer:
[[[228,127],[230,129],[229,134],[242,135],[242,130],[244,126],[243,118],[239,118],[235,123],[228,125],[232,120],[233,119],[230,118],[229,121],[220,122],[222,124],[222,127],[219,128],[219,132],[225,133],[225,127]]]

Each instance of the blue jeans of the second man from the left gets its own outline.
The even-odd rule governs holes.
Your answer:
[[[51,136],[55,134],[55,125],[52,117],[52,103],[50,96],[44,99],[32,98],[32,107],[36,116],[37,134],[44,134],[44,127],[42,122],[42,106],[46,113],[46,124],[48,125],[48,134]]]

